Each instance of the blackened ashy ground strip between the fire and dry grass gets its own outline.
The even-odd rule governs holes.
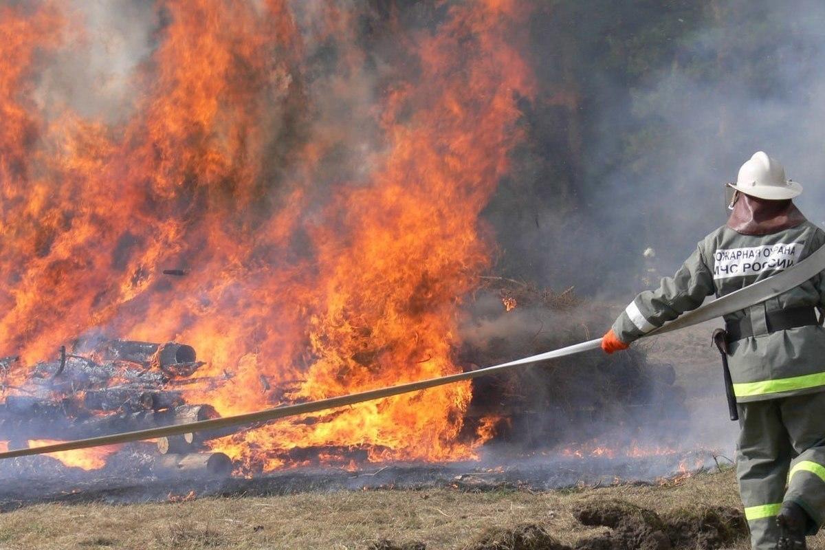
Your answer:
[[[54,458],[16,458],[0,464],[0,511],[44,502],[124,504],[194,496],[267,496],[305,491],[365,491],[446,487],[460,491],[546,491],[569,487],[665,483],[717,468],[709,451],[649,457],[534,456],[498,466],[487,463],[394,463],[356,471],[291,468],[257,477],[199,472],[176,475],[135,465],[139,451],[121,451],[96,471],[66,468]]]

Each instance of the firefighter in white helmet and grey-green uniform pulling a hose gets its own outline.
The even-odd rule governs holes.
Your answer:
[[[607,353],[825,243],[792,202],[802,186],[766,153],[755,153],[728,186],[728,223],[702,239],[676,275],[627,306],[602,338]],[[739,414],[737,477],[754,550],[804,549],[825,520],[823,275],[724,318]]]

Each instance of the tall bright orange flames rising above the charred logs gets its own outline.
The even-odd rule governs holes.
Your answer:
[[[348,4],[158,0],[116,120],[44,103],[39,71],[82,56],[60,39],[84,20],[28,3],[0,14],[18,40],[0,45],[0,353],[185,341],[205,376],[233,374],[188,388],[224,415],[460,371],[461,299],[493,249],[479,214],[533,93],[521,2],[456,2],[412,31],[390,16],[376,76],[371,15]],[[460,437],[470,397],[454,384],[214,445],[246,471],[323,447],[471,458],[493,423]]]

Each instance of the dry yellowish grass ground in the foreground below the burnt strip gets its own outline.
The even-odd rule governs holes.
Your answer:
[[[662,487],[538,493],[342,491],[120,506],[35,505],[0,515],[0,548],[412,550],[424,548],[423,544],[429,550],[546,550],[554,547],[541,541],[520,542],[517,537],[503,544],[490,541],[502,533],[501,529],[507,534],[507,529],[521,525],[523,531],[526,524],[532,526],[528,531],[533,529],[563,544],[606,534],[609,529],[584,526],[574,514],[582,506],[613,500],[660,515],[673,515],[688,506],[691,510],[702,505],[740,508],[730,470],[697,474]],[[485,534],[487,546],[479,544],[485,542]],[[740,539],[729,548],[747,548],[747,541]],[[813,541],[811,548],[825,550],[825,537]]]

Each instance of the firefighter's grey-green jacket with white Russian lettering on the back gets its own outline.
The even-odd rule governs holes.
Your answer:
[[[825,232],[805,221],[771,235],[743,235],[723,226],[705,237],[672,278],[657,290],[639,294],[613,324],[630,343],[681,313],[794,265],[823,246]],[[766,313],[825,306],[825,272],[774,299],[732,313],[735,321],[750,313],[754,336],[733,341],[729,366],[738,402],[761,401],[825,390],[825,329],[818,325],[768,332]]]

